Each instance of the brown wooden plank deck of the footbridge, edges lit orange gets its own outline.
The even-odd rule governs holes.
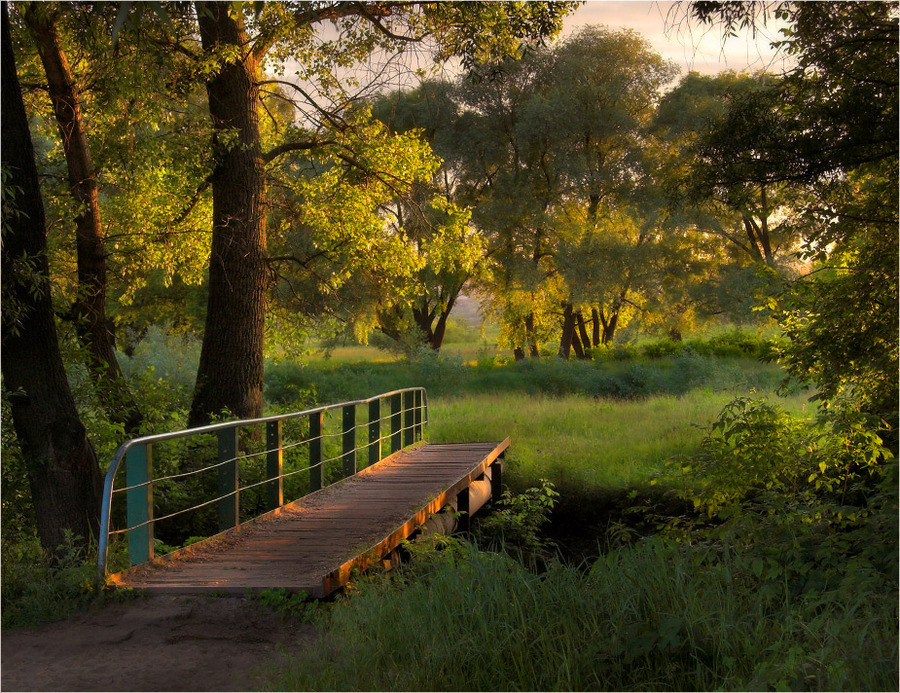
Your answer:
[[[484,474],[509,446],[422,444],[172,558],[112,575],[152,592],[239,593],[283,587],[312,597],[380,560]]]

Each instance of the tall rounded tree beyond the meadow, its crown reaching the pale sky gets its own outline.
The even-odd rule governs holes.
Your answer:
[[[593,308],[597,324],[630,287],[602,307],[581,301],[578,284],[590,278],[561,263],[583,233],[562,229],[580,217],[582,231],[602,232],[608,226],[595,224],[602,208],[631,204],[648,175],[648,125],[673,67],[633,32],[587,28],[495,70],[460,87],[472,132],[460,148],[473,218],[491,239],[493,293],[517,323],[504,320],[517,355],[536,355],[540,323],[552,321],[567,358],[573,346],[588,346],[579,313]],[[611,337],[617,318],[607,317]]]

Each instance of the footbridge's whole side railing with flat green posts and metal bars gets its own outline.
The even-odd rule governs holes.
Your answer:
[[[386,404],[387,406],[383,406]],[[357,407],[365,406],[365,422],[357,423]],[[389,409],[389,413],[387,410]],[[326,415],[340,411],[340,428],[326,432]],[[298,420],[306,424],[305,433],[297,440],[284,440],[284,424]],[[382,424],[388,426],[383,427]],[[368,399],[341,402],[315,409],[278,414],[259,419],[226,421],[210,426],[200,426],[171,433],[133,438],[123,443],[113,456],[106,473],[103,486],[103,505],[100,515],[100,546],[97,559],[98,576],[106,579],[110,538],[126,534],[128,538],[128,559],[132,566],[146,563],[154,557],[154,526],[178,515],[216,505],[218,508],[218,531],[225,532],[241,524],[240,498],[242,493],[265,487],[266,511],[275,510],[286,503],[302,498],[307,493],[329,485],[330,479],[323,473],[329,463],[340,467],[332,469],[340,479],[353,476],[358,471],[357,453],[365,451],[365,465],[374,464],[385,457],[385,452],[393,454],[422,440],[428,423],[428,402],[424,388],[413,387],[385,392]],[[253,427],[265,426],[265,440],[260,450],[253,447]],[[242,436],[243,431],[243,436]],[[218,445],[216,461],[201,460],[198,469],[177,471],[159,477],[153,476],[154,446],[179,439],[215,434]],[[261,436],[257,436],[261,438]],[[360,444],[358,439],[362,438]],[[340,452],[329,456],[329,448],[337,447]],[[263,441],[258,441],[263,442]],[[306,455],[300,451],[305,448]],[[285,471],[284,456],[289,452],[295,459],[304,457],[306,465]],[[263,478],[251,483],[241,483],[242,468],[249,460],[265,459]],[[125,485],[115,487],[116,475],[125,461]],[[206,462],[209,462],[208,464]],[[204,473],[215,471],[218,495],[212,499],[167,512],[161,517],[154,515],[154,486],[172,485]],[[309,485],[304,492],[285,500],[285,480],[309,472]],[[336,482],[340,479],[334,479]],[[332,482],[332,483],[333,483]],[[296,484],[295,484],[296,486]],[[113,504],[117,494],[125,494],[125,526],[112,528]],[[196,499],[195,499],[196,500]],[[248,518],[249,519],[249,518]]]

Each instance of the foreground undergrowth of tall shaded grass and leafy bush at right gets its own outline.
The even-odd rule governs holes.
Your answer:
[[[896,690],[897,465],[878,431],[852,406],[796,420],[738,400],[659,478],[693,510],[647,506],[653,536],[582,564],[433,539],[358,583],[271,686]]]

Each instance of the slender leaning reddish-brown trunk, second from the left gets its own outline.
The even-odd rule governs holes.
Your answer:
[[[47,75],[50,101],[66,156],[69,192],[80,210],[75,217],[78,292],[72,312],[76,329],[87,350],[87,366],[107,415],[124,424],[126,431],[133,432],[142,416],[119,368],[115,337],[106,316],[106,250],[100,227],[97,177],[78,90],[60,44],[52,10],[32,2],[24,14]]]

